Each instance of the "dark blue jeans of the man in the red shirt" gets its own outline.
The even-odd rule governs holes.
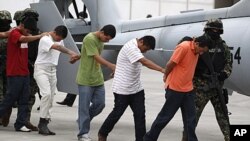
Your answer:
[[[29,76],[12,76],[7,77],[7,94],[0,104],[0,117],[11,108],[15,101],[18,102],[17,119],[15,129],[20,129],[27,123],[28,101],[29,101]]]

